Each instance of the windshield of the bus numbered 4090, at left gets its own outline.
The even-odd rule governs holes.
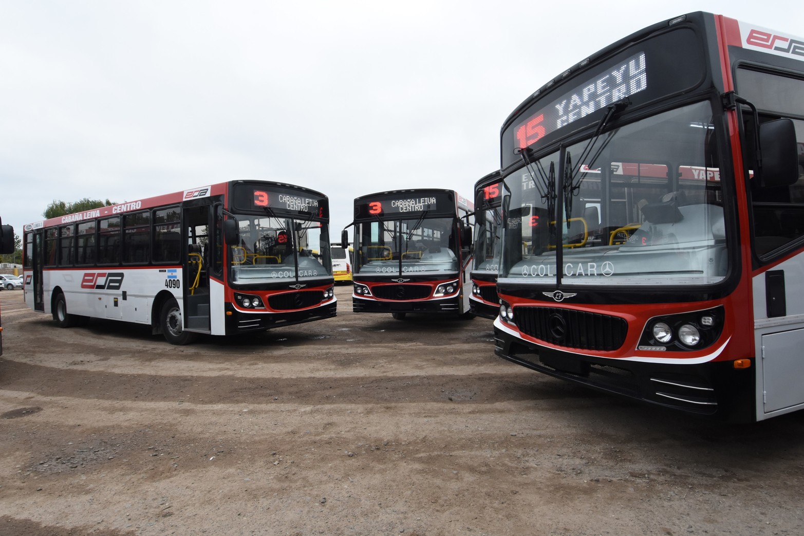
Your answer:
[[[230,245],[232,282],[331,276],[326,224],[282,216],[236,215],[240,245]]]

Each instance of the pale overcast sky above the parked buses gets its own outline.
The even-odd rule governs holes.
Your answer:
[[[471,196],[530,93],[693,10],[804,34],[790,1],[0,0],[0,217],[270,179],[329,196],[337,240],[356,196]]]

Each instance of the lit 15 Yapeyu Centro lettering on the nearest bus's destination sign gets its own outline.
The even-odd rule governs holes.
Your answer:
[[[564,93],[515,126],[516,146],[529,147],[554,130],[647,89],[646,68],[645,52],[638,52]]]

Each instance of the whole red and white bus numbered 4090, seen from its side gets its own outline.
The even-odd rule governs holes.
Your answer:
[[[232,180],[25,226],[25,301],[59,326],[152,326],[172,344],[335,315],[329,204]]]

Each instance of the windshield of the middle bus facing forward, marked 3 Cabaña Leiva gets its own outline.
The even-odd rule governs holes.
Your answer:
[[[454,218],[356,224],[355,273],[439,274],[459,270]]]

